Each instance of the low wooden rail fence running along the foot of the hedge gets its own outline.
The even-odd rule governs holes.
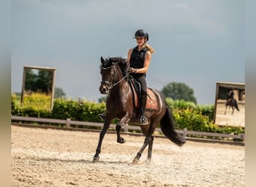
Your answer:
[[[95,123],[95,122],[87,122],[87,121],[77,121],[77,120],[70,120],[70,118],[67,118],[67,120],[58,120],[58,119],[49,119],[49,118],[40,118],[40,117],[22,117],[22,116],[11,116],[12,123],[16,124],[24,122],[30,122],[26,124],[31,123],[56,123],[56,124],[63,124],[65,129],[73,129],[76,127],[72,127],[71,125],[77,125],[77,126],[94,126],[101,128],[103,126],[103,123]],[[17,123],[18,122],[18,123]],[[115,128],[115,124],[111,124],[110,128]],[[123,126],[124,132],[129,131],[140,131],[141,128],[139,126],[131,126],[129,124]],[[155,132],[161,132],[160,128],[156,128]],[[231,134],[222,134],[222,133],[216,133],[216,132],[195,132],[195,131],[188,131],[186,129],[180,130],[177,129],[177,132],[183,137],[187,137],[188,135],[192,136],[201,136],[201,137],[212,137],[212,138],[228,138],[228,139],[237,139],[241,141],[245,141],[245,135],[231,135]]]

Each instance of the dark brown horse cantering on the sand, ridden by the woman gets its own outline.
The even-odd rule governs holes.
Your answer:
[[[137,124],[141,128],[144,135],[144,144],[136,154],[132,163],[137,164],[141,157],[142,152],[148,146],[147,161],[150,162],[153,147],[153,132],[156,125],[160,123],[160,129],[165,137],[170,141],[181,147],[186,143],[186,138],[179,135],[174,129],[174,119],[172,116],[171,108],[165,102],[165,97],[159,91],[152,88],[147,88],[151,92],[151,96],[147,95],[147,104],[156,105],[154,108],[145,108],[145,115],[148,120],[147,125],[140,125],[138,117],[140,115],[138,106],[135,106],[134,99],[135,93],[132,91],[132,86],[129,84],[131,76],[128,72],[128,63],[125,58],[100,58],[100,73],[102,81],[100,83],[100,93],[107,94],[106,99],[106,117],[104,120],[103,128],[100,132],[100,138],[97,144],[96,153],[93,162],[98,162],[100,159],[100,151],[103,143],[103,138],[109,129],[110,123],[113,119],[118,118],[119,123],[115,126],[117,133],[117,142],[124,144],[126,141],[121,137],[121,128],[127,123]],[[155,100],[151,100],[155,98]]]

